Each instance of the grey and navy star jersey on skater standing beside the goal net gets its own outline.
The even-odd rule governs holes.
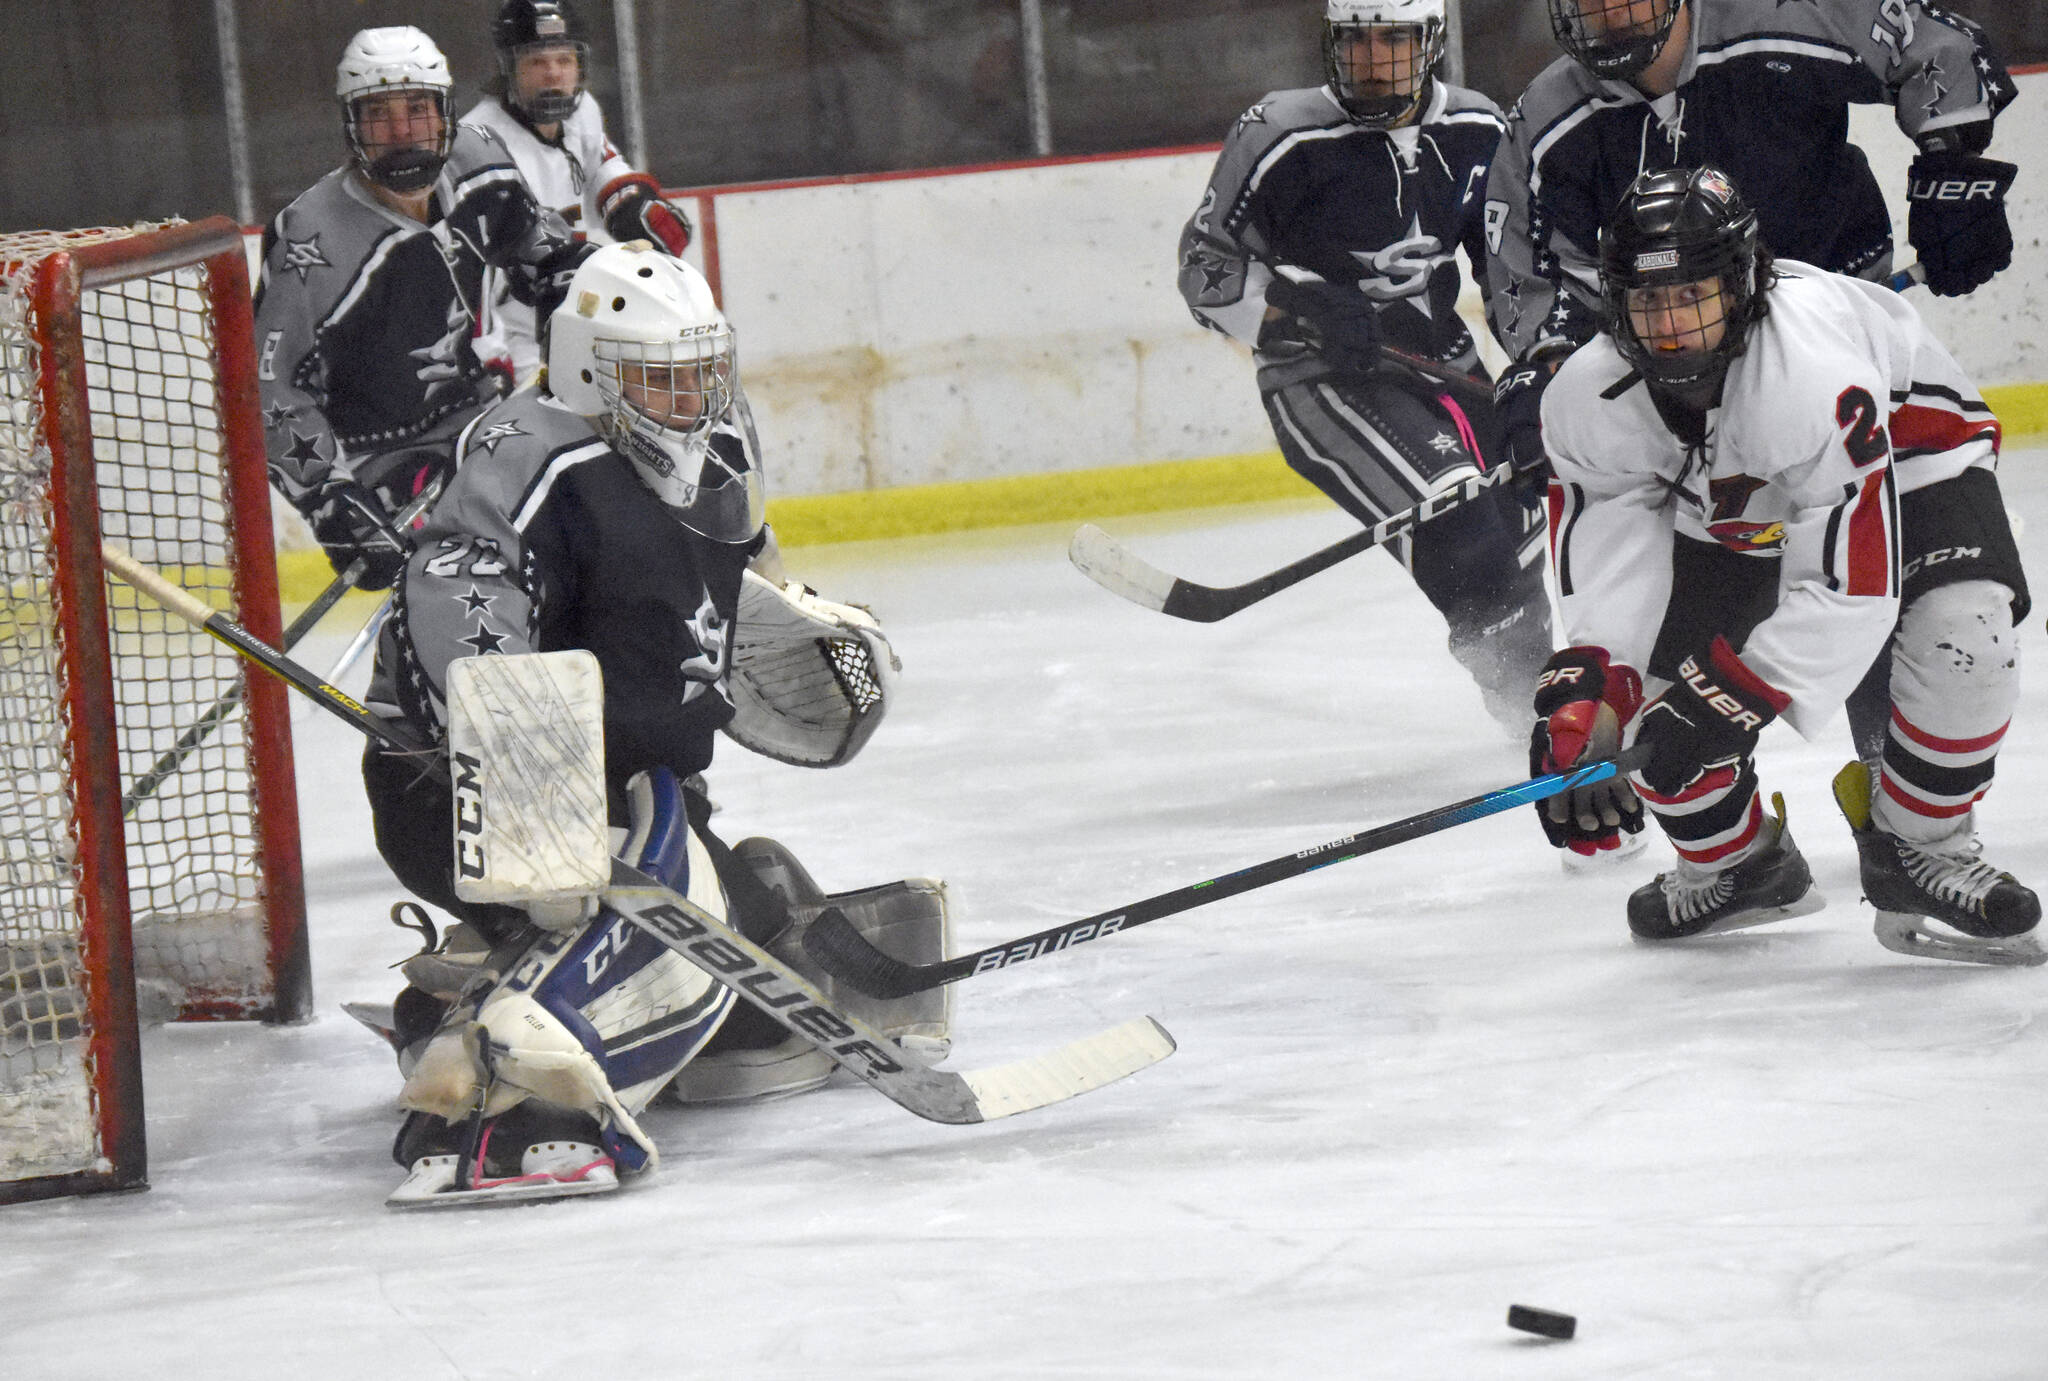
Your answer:
[[[428,223],[338,168],[264,229],[256,377],[270,477],[301,510],[348,457],[461,426],[492,389],[471,348],[485,266],[528,297],[584,254],[498,137],[459,127]]]

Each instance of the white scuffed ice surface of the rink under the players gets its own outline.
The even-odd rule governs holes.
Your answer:
[[[2044,459],[2003,467],[2034,533]],[[1106,527],[1219,584],[1350,531]],[[717,830],[831,889],[946,877],[983,947],[1524,777],[1382,555],[1202,627],[1065,541],[793,551],[885,619],[901,701],[840,770],[723,748]],[[2025,650],[1985,838],[2044,885],[2040,613]],[[1087,1098],[969,1129],[850,1082],[657,1108],[662,1170],[621,1195],[416,1217],[383,1209],[395,1072],[338,1006],[408,951],[356,750],[299,713],[319,1018],[147,1035],[150,1192],[0,1211],[0,1375],[2048,1375],[2048,969],[1878,949],[1839,721],[1763,744],[1817,916],[1640,949],[1622,899],[1663,844],[1567,877],[1518,809],[961,986],[958,1065],[1141,1012],[1180,1039]]]

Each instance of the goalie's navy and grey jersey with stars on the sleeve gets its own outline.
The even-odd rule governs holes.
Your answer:
[[[758,463],[735,420],[711,445],[735,469]],[[733,617],[758,545],[688,531],[588,420],[520,389],[461,438],[365,705],[440,740],[457,658],[580,647],[604,674],[612,789],[649,766],[700,772],[733,715]]]

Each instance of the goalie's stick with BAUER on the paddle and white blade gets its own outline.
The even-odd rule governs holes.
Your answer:
[[[356,731],[375,738],[393,752],[412,756],[422,770],[446,781],[449,766],[432,746],[371,715],[344,690],[258,641],[240,623],[164,580],[119,547],[104,543],[100,555],[109,572],[172,615],[205,629],[242,658],[309,695]],[[993,1070],[930,1070],[905,1055],[889,1037],[838,1010],[823,992],[766,949],[694,906],[682,893],[616,859],[612,861],[610,885],[604,891],[604,906],[825,1051],[854,1078],[934,1123],[987,1123],[1028,1113],[1102,1088],[1174,1053],[1174,1037],[1165,1033],[1165,1027],[1151,1016],[1141,1016],[1055,1051]]]

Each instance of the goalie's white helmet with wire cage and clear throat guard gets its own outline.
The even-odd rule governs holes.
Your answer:
[[[752,541],[766,504],[745,449],[713,445],[737,369],[705,275],[645,240],[592,252],[547,322],[549,393],[594,418],[684,527],[725,543]]]

